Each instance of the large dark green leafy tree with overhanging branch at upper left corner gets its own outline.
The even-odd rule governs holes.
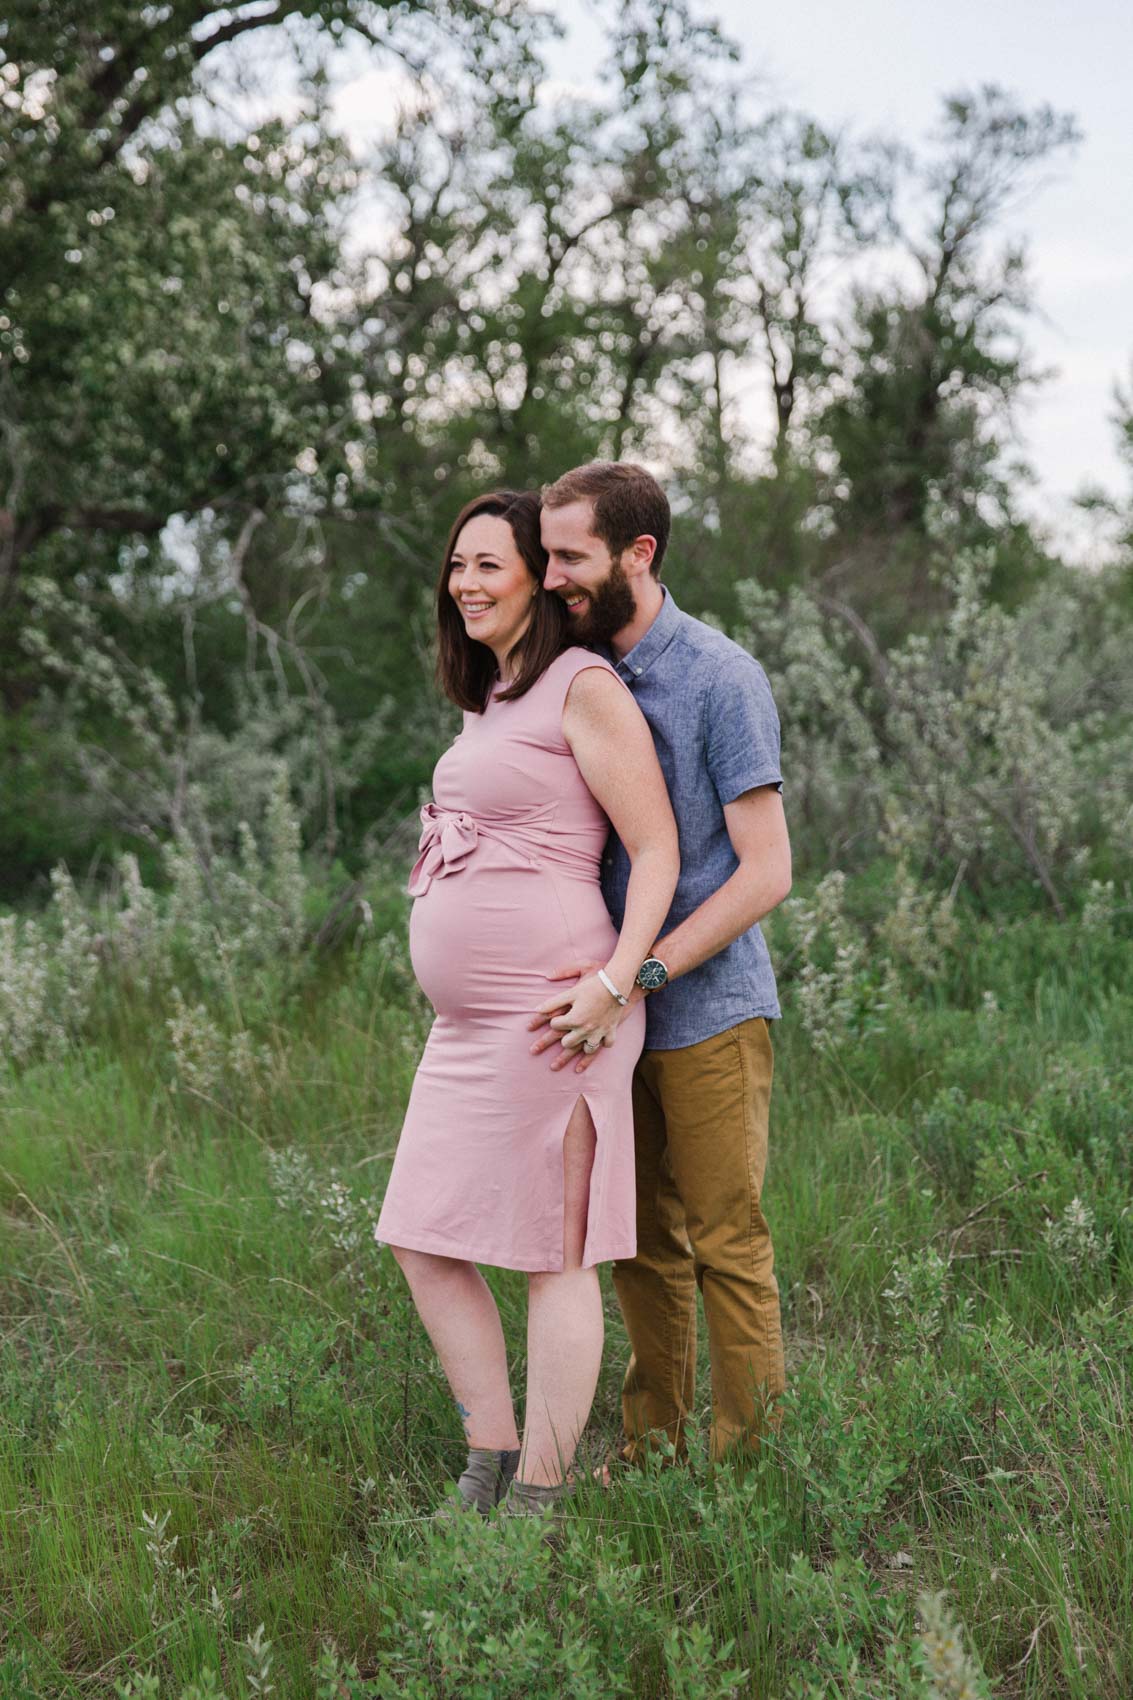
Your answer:
[[[170,513],[262,503],[345,403],[315,296],[337,280],[347,153],[320,122],[233,134],[202,78],[267,31],[410,65],[442,46],[507,66],[521,94],[534,66],[510,3],[17,0],[0,34],[0,605],[56,532],[153,536]]]

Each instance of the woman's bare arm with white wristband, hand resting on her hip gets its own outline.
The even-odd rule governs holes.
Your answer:
[[[572,680],[563,738],[629,857],[626,913],[614,954],[604,964],[614,986],[629,996],[677,889],[677,823],[645,716],[606,668],[585,668]],[[563,1032],[563,1046],[575,1051],[584,1039],[612,1040],[621,1015],[623,1006],[590,974],[573,988],[568,1006],[551,1025]]]

